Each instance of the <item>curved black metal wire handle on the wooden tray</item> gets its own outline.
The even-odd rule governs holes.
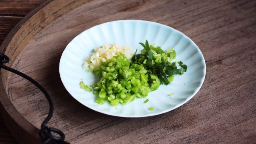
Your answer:
[[[56,129],[56,128],[48,128],[46,126],[46,124],[49,122],[49,120],[53,116],[53,101],[52,101],[50,95],[38,82],[36,82],[31,77],[27,76],[26,74],[24,74],[22,72],[19,72],[17,70],[14,70],[14,69],[4,65],[4,63],[8,63],[8,62],[9,62],[9,57],[3,53],[0,53],[0,69],[3,68],[7,71],[18,74],[19,76],[30,81],[32,84],[34,84],[38,89],[40,89],[44,93],[45,97],[47,98],[47,100],[49,102],[49,106],[50,106],[49,114],[46,117],[46,119],[43,121],[43,123],[41,125],[41,129],[39,130],[39,137],[41,138],[42,142],[44,144],[69,144],[64,141],[65,134],[62,131],[60,131],[59,129]],[[55,133],[59,134],[60,137],[53,136],[51,132],[55,132]]]

